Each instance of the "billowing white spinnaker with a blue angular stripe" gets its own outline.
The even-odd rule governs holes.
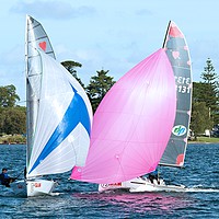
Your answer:
[[[27,177],[84,165],[92,108],[78,81],[55,59],[39,53],[42,85]]]

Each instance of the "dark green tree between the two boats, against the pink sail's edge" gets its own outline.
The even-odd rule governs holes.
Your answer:
[[[89,85],[87,87],[87,93],[91,101],[93,112],[96,111],[99,104],[103,100],[106,92],[113,87],[115,81],[113,77],[106,76],[110,70],[96,71],[97,76],[93,76],[90,80]]]

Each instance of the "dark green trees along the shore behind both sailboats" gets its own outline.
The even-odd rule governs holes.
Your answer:
[[[114,78],[108,76],[110,70],[96,71],[85,87],[76,70],[82,67],[81,64],[68,60],[61,65],[84,88],[95,112],[106,92],[115,83]],[[203,134],[205,129],[212,129],[219,124],[219,82],[210,58],[207,59],[200,78],[200,82],[193,83],[191,129],[195,135]],[[19,106],[18,101],[20,97],[14,85],[0,87],[0,134],[26,132],[25,107]]]

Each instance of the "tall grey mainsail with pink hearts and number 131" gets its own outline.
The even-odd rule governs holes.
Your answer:
[[[192,70],[188,46],[180,28],[171,21],[163,48],[172,65],[176,88],[176,116],[171,138],[160,164],[183,166],[192,107]]]

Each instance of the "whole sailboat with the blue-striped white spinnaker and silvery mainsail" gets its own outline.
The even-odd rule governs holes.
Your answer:
[[[47,175],[84,165],[90,146],[92,107],[79,82],[55,60],[46,32],[26,16],[27,147],[24,181],[15,194],[53,194]],[[46,176],[46,177],[44,177]]]

